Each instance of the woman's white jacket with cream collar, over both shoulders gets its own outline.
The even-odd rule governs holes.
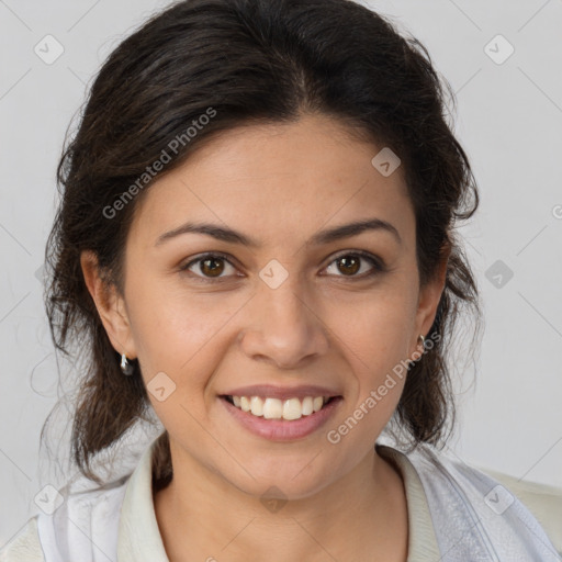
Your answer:
[[[153,445],[131,475],[111,485],[87,490],[82,481],[81,487],[74,483],[63,488],[63,505],[30,519],[0,551],[0,562],[169,562],[154,512]],[[407,468],[403,474],[411,474],[411,526],[416,525],[408,493],[412,474],[427,498],[435,550],[428,541],[424,554],[408,552],[408,562],[562,560],[537,519],[496,480],[425,445],[408,454],[376,447]],[[416,532],[422,535],[419,527]]]

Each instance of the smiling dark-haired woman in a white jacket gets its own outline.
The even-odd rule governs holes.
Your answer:
[[[112,53],[47,248],[98,486],[47,497],[5,560],[558,560],[437,451],[456,316],[479,313],[443,99],[425,48],[348,0],[187,0]],[[100,479],[151,411],[134,472]]]

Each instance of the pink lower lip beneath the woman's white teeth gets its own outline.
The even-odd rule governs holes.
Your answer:
[[[262,416],[255,416],[248,412],[243,412],[231,404],[225,398],[218,398],[226,407],[227,412],[234,416],[246,429],[254,435],[270,439],[272,441],[292,441],[311,435],[319,429],[328,418],[334,414],[341,397],[338,396],[326,404],[322,409],[302,416],[299,419],[266,419]]]

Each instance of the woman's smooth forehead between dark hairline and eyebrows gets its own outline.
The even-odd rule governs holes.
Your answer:
[[[154,244],[195,218],[279,241],[376,216],[407,236],[414,215],[403,170],[385,177],[373,166],[382,148],[324,116],[221,133],[156,179],[131,234]]]

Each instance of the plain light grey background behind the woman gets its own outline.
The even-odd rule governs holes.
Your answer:
[[[60,390],[40,281],[65,132],[106,55],[167,3],[0,0],[0,547],[52,482],[38,437]],[[446,452],[562,486],[562,1],[363,3],[418,37],[457,92],[456,132],[482,195],[460,234],[485,331],[476,368],[460,367],[459,429]],[[48,34],[64,47],[50,65],[34,52]],[[515,48],[502,64],[498,34]],[[497,260],[513,271],[499,288]]]

